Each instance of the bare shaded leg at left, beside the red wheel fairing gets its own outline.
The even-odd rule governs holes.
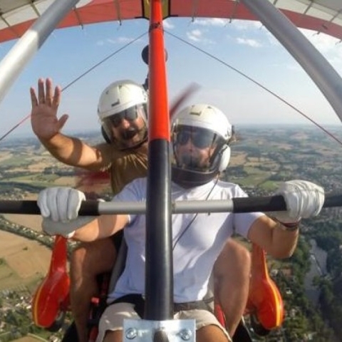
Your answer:
[[[71,255],[70,299],[78,342],[88,341],[90,300],[98,294],[96,276],[111,271],[115,258],[116,251],[111,238],[81,244]]]

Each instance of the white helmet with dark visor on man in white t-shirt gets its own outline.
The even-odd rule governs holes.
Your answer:
[[[182,130],[197,128],[197,143],[212,145],[214,152],[207,167],[199,168],[193,158],[186,165],[177,156],[177,144],[182,143]],[[187,136],[183,135],[185,142]],[[195,137],[194,137],[195,138]],[[197,186],[212,180],[219,172],[224,171],[230,159],[229,140],[232,138],[232,125],[227,116],[213,105],[191,105],[177,113],[172,118],[172,180],[180,185]],[[192,138],[193,139],[193,138]],[[202,141],[201,141],[202,140]],[[196,141],[192,142],[196,145]]]

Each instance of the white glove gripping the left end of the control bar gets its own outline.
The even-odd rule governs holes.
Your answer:
[[[78,217],[83,192],[71,187],[50,187],[41,191],[37,204],[43,216],[42,228],[47,234],[73,237],[76,229],[93,221],[95,217]]]

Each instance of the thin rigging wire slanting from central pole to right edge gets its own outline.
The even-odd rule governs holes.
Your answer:
[[[316,125],[319,129],[323,130],[324,133],[326,133],[327,135],[329,135],[331,138],[333,138],[333,140],[336,140],[336,142],[338,142],[340,145],[342,145],[342,140],[339,140],[335,135],[333,135],[333,133],[329,132],[328,130],[326,130],[326,128],[323,128],[322,125],[320,125],[319,123],[316,123],[315,120],[311,119],[308,115],[306,115],[304,112],[302,112],[299,108],[296,108],[296,106],[292,105],[291,103],[289,103],[289,101],[285,100],[284,98],[282,98],[280,95],[274,93],[274,91],[270,90],[269,88],[267,88],[266,86],[262,85],[261,83],[259,83],[258,81],[255,81],[254,78],[247,76],[247,74],[243,73],[242,71],[239,71],[237,68],[234,68],[234,66],[231,66],[230,64],[222,61],[222,59],[219,59],[218,57],[212,55],[212,53],[209,53],[207,51],[204,51],[202,48],[199,48],[198,46],[195,46],[194,44],[190,43],[189,41],[186,41],[183,38],[180,38],[179,36],[176,36],[174,33],[171,33],[167,30],[164,30],[165,33],[169,34],[170,36],[178,39],[179,41],[182,41],[182,43],[185,43],[189,46],[192,46],[192,48],[195,48],[197,51],[204,53],[204,55],[209,56],[210,58],[213,58],[215,61],[223,64],[224,66],[226,66],[227,68],[230,68],[232,71],[235,71],[236,73],[238,73],[240,76],[247,78],[247,80],[251,81],[252,83],[256,84],[257,86],[259,86],[260,88],[264,89],[267,93],[270,93],[271,95],[273,95],[274,97],[276,97],[278,100],[281,100],[282,103],[285,103],[286,105],[288,105],[290,108],[292,108],[293,110],[295,110],[297,113],[299,113],[300,115],[302,115],[304,118],[306,118],[307,120],[309,120],[311,123],[314,123],[314,125]]]

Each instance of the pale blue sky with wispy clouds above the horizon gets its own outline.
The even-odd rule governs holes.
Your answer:
[[[54,31],[0,103],[0,136],[30,113],[29,88],[36,87],[38,78],[51,77],[55,84],[65,88],[122,49],[63,90],[58,115],[70,115],[63,132],[99,128],[96,110],[102,90],[120,79],[145,81],[147,66],[142,61],[141,51],[148,42],[147,28],[148,21],[139,19],[123,21],[121,25],[113,22]],[[170,103],[195,82],[200,88],[185,105],[216,105],[237,128],[246,124],[312,125],[294,109],[232,69],[235,68],[320,125],[341,125],[331,105],[299,63],[259,22],[167,19],[164,28]],[[323,33],[303,32],[342,76],[342,43]],[[135,40],[142,33],[145,35]],[[15,43],[0,44],[0,58],[4,58]],[[126,46],[128,43],[130,45]],[[34,136],[29,120],[9,137],[16,135]]]

